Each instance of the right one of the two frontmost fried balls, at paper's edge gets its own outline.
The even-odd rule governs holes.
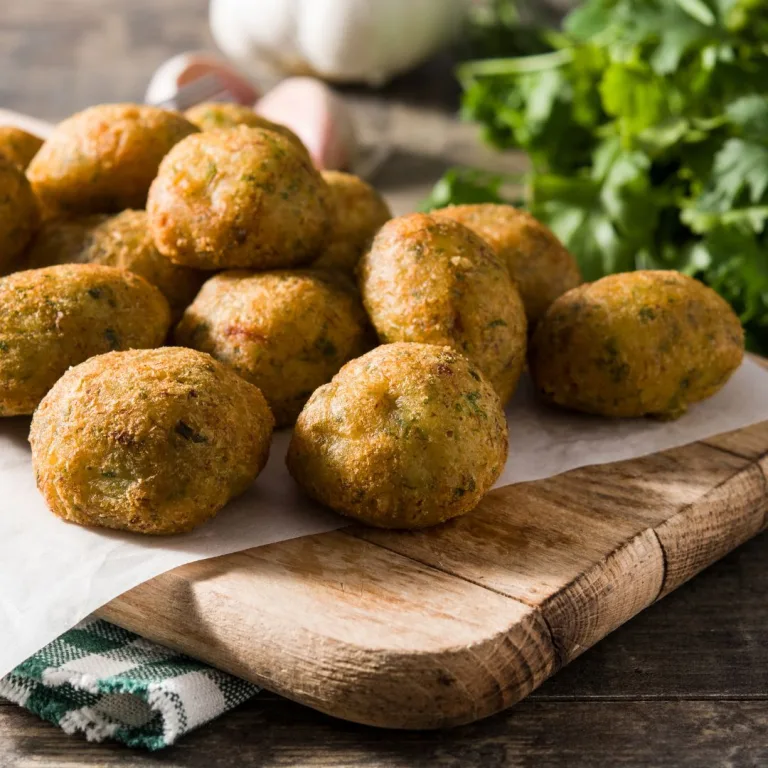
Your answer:
[[[347,363],[296,423],[288,469],[310,496],[380,528],[477,506],[507,459],[501,402],[449,347],[387,344]]]

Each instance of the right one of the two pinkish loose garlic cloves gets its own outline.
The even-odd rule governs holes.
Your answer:
[[[256,103],[262,117],[288,126],[320,170],[348,170],[357,159],[357,137],[349,107],[313,77],[289,77]]]

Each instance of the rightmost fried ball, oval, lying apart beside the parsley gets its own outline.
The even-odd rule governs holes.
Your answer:
[[[604,277],[557,299],[530,367],[552,403],[604,416],[676,418],[739,367],[744,333],[711,288],[678,272]]]

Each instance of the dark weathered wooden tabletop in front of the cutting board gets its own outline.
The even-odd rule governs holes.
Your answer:
[[[66,736],[0,702],[0,765],[755,768],[768,759],[767,560],[768,535],[758,536],[474,725],[382,731],[265,692],[147,755]]]

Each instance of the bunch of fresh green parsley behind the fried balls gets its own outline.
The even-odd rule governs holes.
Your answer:
[[[539,39],[459,69],[464,114],[530,156],[531,212],[587,279],[701,277],[768,351],[768,0],[587,0]],[[497,200],[499,183],[453,171],[437,191]]]

